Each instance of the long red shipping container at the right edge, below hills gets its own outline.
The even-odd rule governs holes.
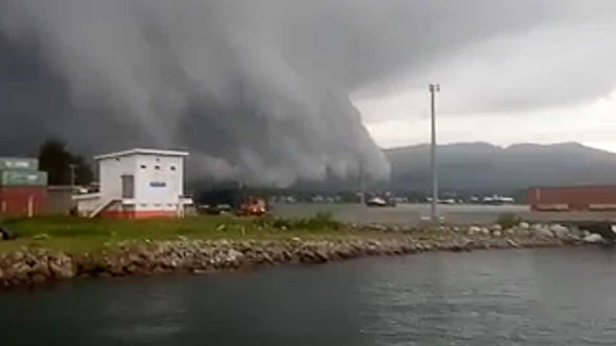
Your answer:
[[[532,211],[616,211],[616,185],[531,187]]]

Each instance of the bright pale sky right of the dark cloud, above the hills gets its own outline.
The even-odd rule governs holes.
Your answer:
[[[532,20],[445,46],[426,68],[354,94],[381,147],[429,141],[428,84],[439,82],[441,143],[577,141],[616,151],[616,1],[543,2],[540,15],[539,1],[512,3]],[[440,25],[468,24],[452,23]]]

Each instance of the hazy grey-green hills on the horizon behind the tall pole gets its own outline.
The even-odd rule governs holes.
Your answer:
[[[384,150],[396,188],[428,191],[430,146]],[[439,185],[443,190],[503,192],[529,185],[616,183],[616,154],[580,143],[456,143],[437,148]]]

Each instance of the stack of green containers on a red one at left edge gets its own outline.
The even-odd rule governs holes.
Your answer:
[[[0,158],[0,214],[33,217],[46,211],[47,173],[38,159]]]

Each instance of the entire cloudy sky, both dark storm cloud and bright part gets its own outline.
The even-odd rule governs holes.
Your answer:
[[[615,0],[0,0],[0,155],[55,137],[187,148],[220,179],[385,179],[378,146],[429,139],[431,82],[441,143],[616,149],[615,18]]]

